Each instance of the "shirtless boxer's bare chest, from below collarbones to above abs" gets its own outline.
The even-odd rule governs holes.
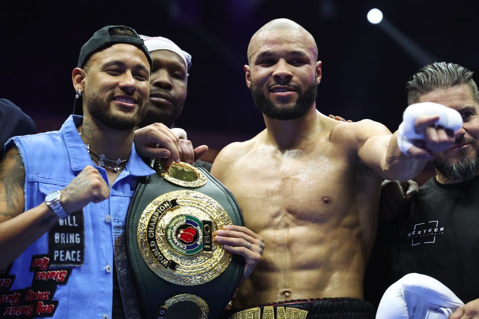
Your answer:
[[[232,189],[245,218],[274,220],[317,220],[342,211],[348,199],[351,165],[347,157],[327,153],[289,151],[268,160],[244,160],[245,172]]]

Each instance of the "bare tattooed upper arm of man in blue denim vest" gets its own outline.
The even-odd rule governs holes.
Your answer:
[[[9,220],[24,209],[25,168],[16,147],[0,161],[0,222]]]

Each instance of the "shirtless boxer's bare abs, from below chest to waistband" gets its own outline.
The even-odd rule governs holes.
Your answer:
[[[364,256],[350,229],[269,229],[263,259],[240,287],[234,308],[284,300],[363,298]]]

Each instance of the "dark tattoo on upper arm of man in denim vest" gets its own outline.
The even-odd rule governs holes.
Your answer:
[[[5,188],[5,203],[7,209],[14,209],[18,204],[23,206],[23,202],[19,203],[22,196],[23,185],[25,183],[25,167],[21,161],[20,154],[17,149],[7,155],[7,159],[11,160],[8,164],[6,160],[0,163],[0,183]],[[22,209],[23,211],[23,209]]]

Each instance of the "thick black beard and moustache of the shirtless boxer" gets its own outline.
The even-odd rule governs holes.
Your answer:
[[[271,102],[271,100],[267,99],[264,93],[256,89],[253,85],[251,85],[251,95],[253,97],[254,105],[256,108],[261,111],[264,115],[271,119],[276,120],[294,120],[298,119],[304,114],[306,114],[311,105],[313,105],[316,97],[318,95],[318,83],[317,77],[314,79],[314,82],[311,83],[310,86],[304,91],[304,93],[300,92],[300,89],[294,84],[287,84],[286,86],[294,88],[298,93],[299,97],[295,104],[288,105],[288,106],[277,106]],[[273,86],[277,85],[272,84],[268,86],[268,89]]]

